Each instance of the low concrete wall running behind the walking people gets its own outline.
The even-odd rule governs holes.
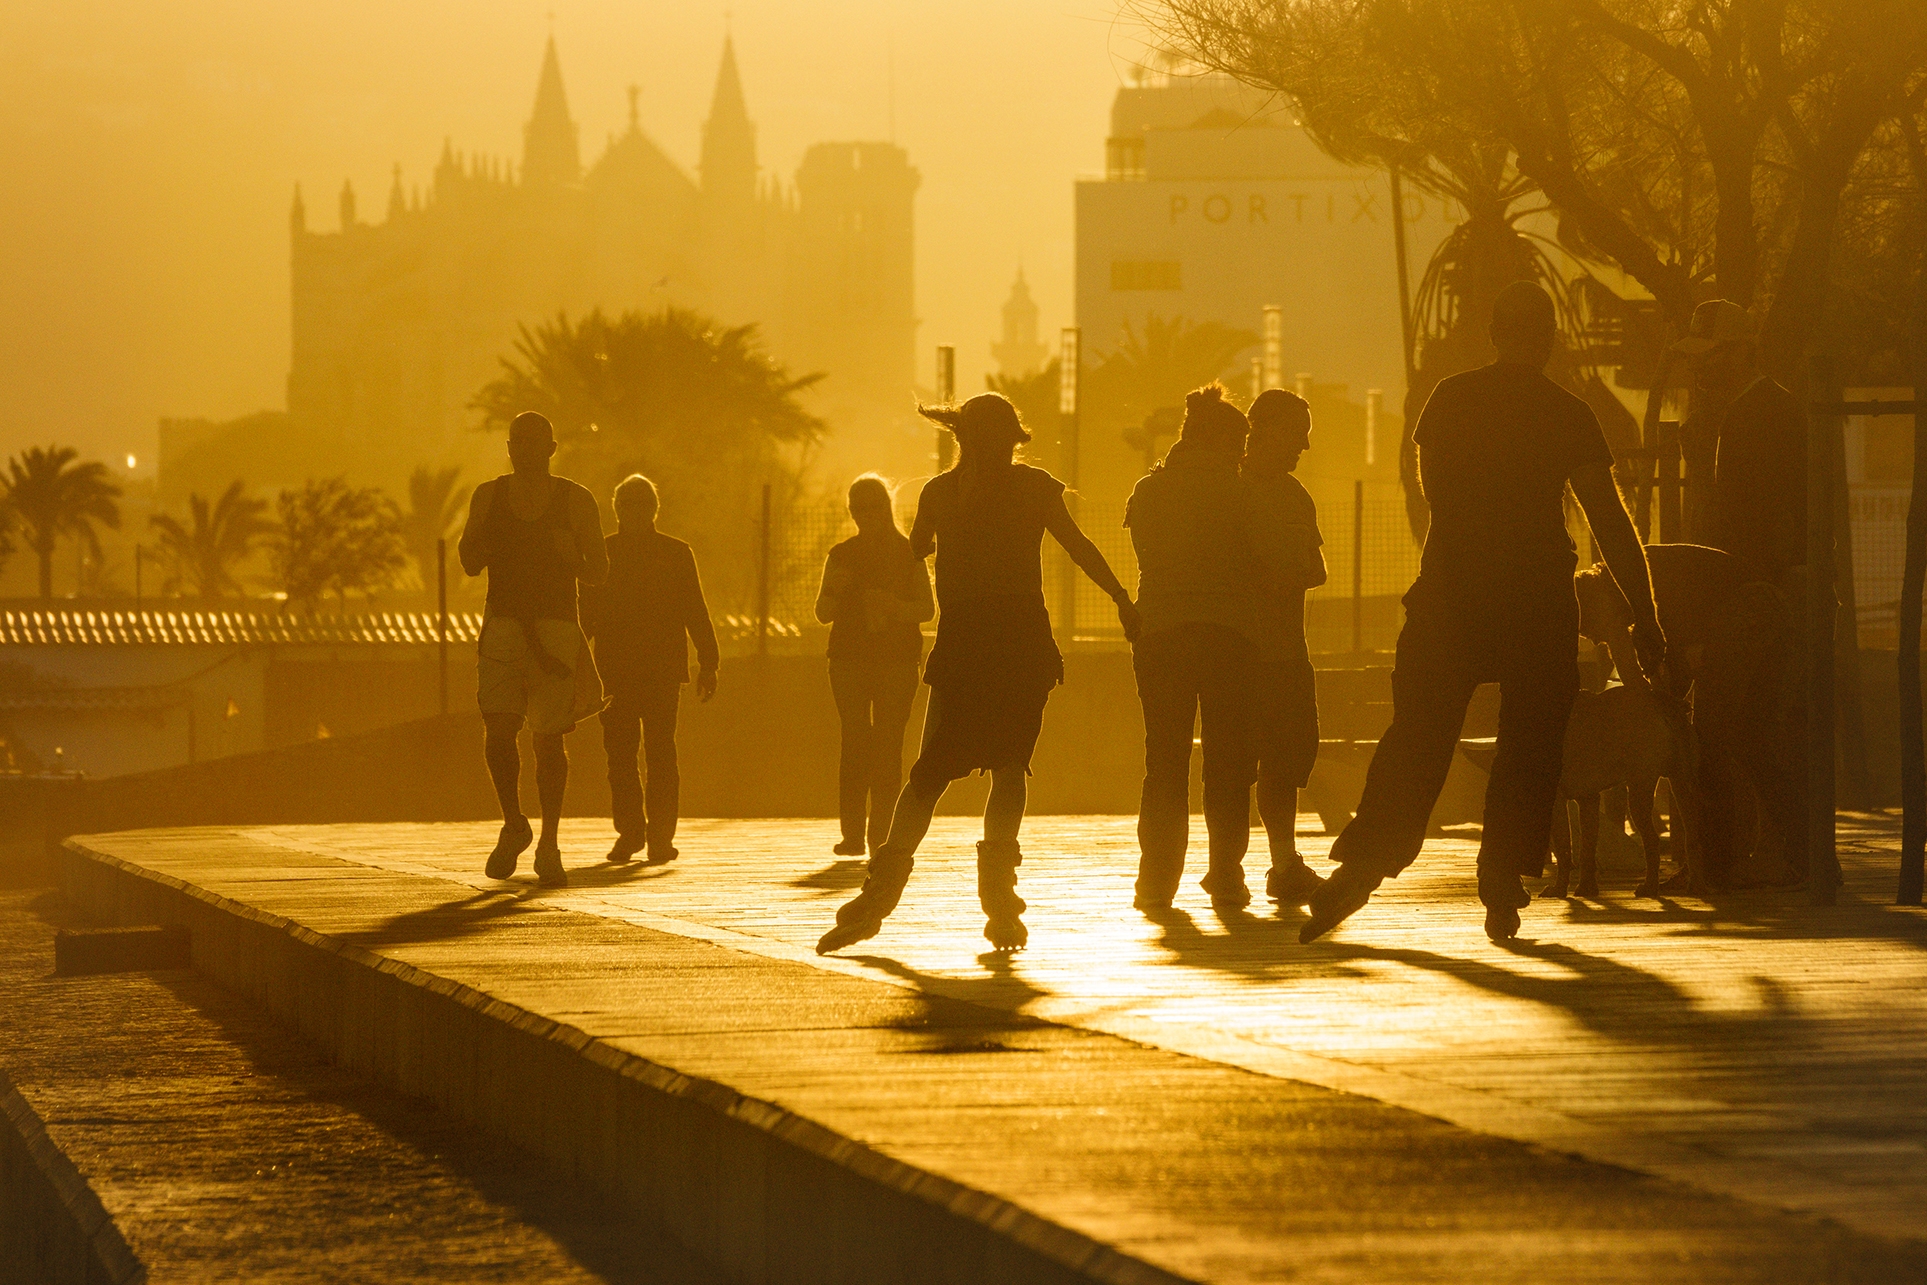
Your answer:
[[[1071,655],[1068,682],[1044,715],[1031,776],[1033,813],[1135,813],[1143,780],[1143,719],[1125,651]],[[1495,694],[1482,692],[1466,736],[1495,730]],[[1320,676],[1326,751],[1303,809],[1337,825],[1364,782],[1370,742],[1391,715],[1384,669]],[[923,697],[906,738],[915,749]],[[831,817],[836,811],[836,713],[821,657],[742,659],[703,705],[684,695],[682,813],[688,817]],[[607,761],[595,722],[568,736],[567,813],[609,815]],[[1193,755],[1193,807],[1199,801]],[[942,811],[983,809],[989,780],[967,778]],[[1484,776],[1457,763],[1436,825],[1478,821]],[[522,755],[522,800],[534,807],[534,755]],[[331,821],[474,821],[497,817],[482,763],[482,721],[464,707],[360,736],[141,773],[114,780],[0,776],[0,815],[17,852],[48,838],[145,826]],[[15,855],[15,861],[21,859]]]

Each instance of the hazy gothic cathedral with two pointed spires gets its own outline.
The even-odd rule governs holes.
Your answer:
[[[917,171],[888,143],[819,143],[794,183],[757,168],[730,44],[723,46],[692,177],[642,131],[584,168],[551,40],[520,166],[443,148],[426,193],[395,189],[378,223],[351,187],[316,231],[295,193],[289,432],[310,455],[393,484],[420,462],[491,472],[470,399],[518,328],[667,304],[755,322],[792,372],[825,372],[811,408],[881,466],[906,430],[915,370],[911,198]],[[293,462],[293,460],[289,460]],[[268,478],[251,478],[268,482]]]

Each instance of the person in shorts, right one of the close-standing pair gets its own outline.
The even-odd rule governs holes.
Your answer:
[[[1270,507],[1283,541],[1258,584],[1258,663],[1253,682],[1253,747],[1258,755],[1258,817],[1272,848],[1264,894],[1305,905],[1324,882],[1299,853],[1299,790],[1318,763],[1318,676],[1305,643],[1305,591],[1326,582],[1318,505],[1291,476],[1312,445],[1312,408],[1285,389],[1251,403],[1245,485]]]

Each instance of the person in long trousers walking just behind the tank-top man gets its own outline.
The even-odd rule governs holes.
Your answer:
[[[649,865],[676,859],[676,707],[690,680],[696,643],[696,694],[717,694],[717,632],[696,574],[696,553],[655,530],[655,484],[630,474],[615,487],[617,532],[609,536],[609,580],[584,601],[584,624],[595,640],[595,663],[609,688],[601,713],[609,759],[609,813],[615,821],[611,861],[649,850]],[[636,749],[649,769],[644,798]]]

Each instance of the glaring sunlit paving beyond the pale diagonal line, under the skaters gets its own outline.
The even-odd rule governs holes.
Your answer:
[[[829,855],[836,834],[825,821],[692,821],[678,840],[684,857],[659,869],[582,869],[609,832],[574,823],[567,859],[576,886],[541,900],[711,940],[726,934],[759,954],[1919,1235],[1927,915],[1887,904],[1892,828],[1883,817],[1842,823],[1848,886],[1831,909],[1806,905],[1798,890],[1719,905],[1636,900],[1628,875],[1609,879],[1601,902],[1540,902],[1515,948],[1480,929],[1472,844],[1463,840],[1430,844],[1412,873],[1312,948],[1297,944],[1299,913],[1258,900],[1247,913],[1218,915],[1195,880],[1181,913],[1152,923],[1129,907],[1129,817],[1027,823],[1031,948],[1010,965],[981,954],[975,832],[960,819],[938,819],[902,909],[846,961],[811,950],[861,880],[861,863]],[[258,834],[499,886],[480,875],[476,855],[491,826]],[[1301,838],[1307,852],[1328,844]]]

